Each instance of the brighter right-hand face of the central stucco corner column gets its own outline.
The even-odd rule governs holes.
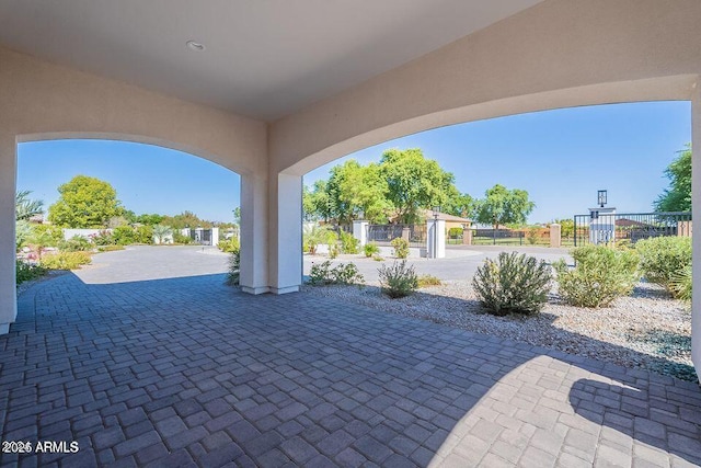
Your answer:
[[[272,179],[268,212],[271,293],[295,293],[302,282],[302,178],[279,173]]]

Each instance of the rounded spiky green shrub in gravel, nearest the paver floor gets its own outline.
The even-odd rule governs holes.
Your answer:
[[[490,313],[535,313],[548,301],[551,279],[543,260],[502,252],[496,261],[487,259],[478,267],[472,286]]]

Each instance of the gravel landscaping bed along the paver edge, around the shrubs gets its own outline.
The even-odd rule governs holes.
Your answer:
[[[470,282],[449,281],[390,299],[377,284],[304,286],[304,294],[333,297],[386,312],[496,335],[566,353],[640,367],[698,381],[691,364],[691,311],[659,286],[641,283],[631,297],[612,307],[586,309],[563,304],[552,294],[531,317],[484,313]]]

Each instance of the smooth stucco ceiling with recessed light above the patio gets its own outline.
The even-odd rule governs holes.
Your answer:
[[[0,0],[0,44],[274,121],[539,1]]]

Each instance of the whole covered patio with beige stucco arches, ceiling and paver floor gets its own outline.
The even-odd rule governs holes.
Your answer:
[[[302,175],[370,145],[686,100],[701,148],[700,20],[697,0],[0,3],[2,441],[80,447],[0,461],[701,464],[693,384],[279,296],[302,278]],[[18,303],[16,147],[60,138],[154,144],[241,174],[243,293],[218,275],[66,275]],[[701,295],[692,347],[699,372]]]

